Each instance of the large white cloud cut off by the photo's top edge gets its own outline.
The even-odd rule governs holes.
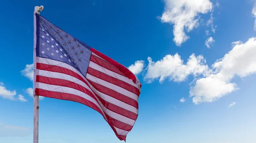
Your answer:
[[[206,14],[212,10],[212,3],[209,0],[164,0],[165,11],[161,16],[162,22],[174,24],[174,42],[180,46],[189,39],[185,34],[198,27],[199,14]]]

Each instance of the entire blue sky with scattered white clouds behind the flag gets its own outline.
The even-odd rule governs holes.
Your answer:
[[[42,16],[137,74],[139,116],[127,143],[256,142],[253,0],[4,0],[1,143],[32,142],[29,65],[41,5]],[[122,141],[98,112],[41,98],[39,143],[102,142]]]

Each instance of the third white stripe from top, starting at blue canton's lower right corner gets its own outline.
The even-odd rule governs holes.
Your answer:
[[[112,83],[110,83],[108,81],[104,81],[102,79],[99,79],[99,78],[97,78],[95,76],[90,75],[89,73],[86,74],[86,78],[88,80],[90,80],[90,81],[96,82],[97,84],[100,84],[102,86],[108,87],[111,90],[115,90],[116,92],[121,93],[122,95],[125,95],[125,96],[127,96],[129,98],[132,98],[135,101],[138,101],[138,98],[139,98],[138,95],[132,93],[131,91],[125,90],[122,87],[119,87],[119,86],[117,86],[115,84],[112,84]]]

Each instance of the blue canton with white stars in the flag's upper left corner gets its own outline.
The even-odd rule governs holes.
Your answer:
[[[90,46],[36,14],[36,56],[67,63],[84,76],[90,62]]]

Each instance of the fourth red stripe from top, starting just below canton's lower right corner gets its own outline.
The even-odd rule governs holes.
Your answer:
[[[127,104],[129,104],[129,105],[131,105],[131,106],[133,106],[133,107],[138,109],[138,102],[135,101],[134,99],[129,98],[129,97],[125,96],[125,95],[122,95],[121,93],[118,93],[115,90],[111,90],[108,87],[104,87],[104,86],[102,86],[100,84],[97,84],[96,82],[90,81],[89,79],[88,79],[88,81],[99,92],[104,93],[106,95],[109,95],[109,96],[111,96],[113,98],[116,98],[116,99],[118,99],[120,101],[123,101],[123,102],[125,102],[125,103],[127,103]]]

